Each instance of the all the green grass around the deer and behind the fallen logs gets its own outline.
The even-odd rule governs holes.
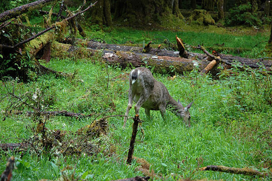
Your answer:
[[[129,28],[116,28],[111,32],[89,31],[89,39],[103,38],[107,43],[135,44],[150,40],[161,43],[164,39],[175,41],[176,34],[189,45],[225,43],[228,47],[264,47],[268,34],[233,35],[207,32],[141,31]],[[165,38],[166,37],[166,38]],[[115,40],[113,40],[113,38]],[[113,41],[113,42],[111,42]],[[157,41],[157,42],[156,42]],[[263,42],[263,43],[262,43]],[[257,46],[255,46],[258,44]],[[255,50],[244,55],[257,57]],[[130,68],[121,69],[101,64],[101,55],[86,59],[55,59],[45,64],[57,71],[74,73],[73,77],[55,77],[53,74],[40,74],[36,81],[22,83],[6,78],[0,81],[0,143],[18,143],[31,139],[37,127],[37,120],[45,123],[48,130],[61,130],[75,133],[90,125],[95,119],[107,115],[124,114],[128,103],[128,74]],[[152,68],[150,68],[152,70]],[[155,180],[262,180],[262,178],[235,175],[222,172],[200,171],[207,165],[224,165],[237,168],[253,168],[261,172],[272,169],[272,76],[262,69],[240,71],[232,68],[232,76],[222,73],[218,79],[210,75],[202,76],[198,69],[183,75],[170,77],[153,72],[154,77],[164,83],[174,99],[183,105],[194,101],[190,108],[191,127],[184,126],[173,113],[167,111],[163,120],[159,112],[151,111],[147,119],[144,109],[140,118],[145,136],[138,132],[134,156],[150,163],[160,178]],[[271,72],[270,72],[271,73]],[[29,106],[17,104],[16,98],[6,96],[13,93],[24,99]],[[42,102],[36,97],[43,95]],[[39,99],[40,100],[40,99]],[[16,111],[33,111],[31,106],[39,105],[44,111],[68,111],[92,114],[80,119],[66,116],[29,116],[27,114],[6,113],[11,108]],[[130,116],[134,116],[131,109]],[[3,121],[4,120],[4,121]],[[88,140],[98,147],[93,154],[80,153],[65,155],[54,149],[37,154],[27,152],[0,151],[0,171],[5,169],[10,156],[16,158],[17,169],[13,172],[14,181],[57,180],[67,176],[70,180],[107,181],[143,176],[136,169],[139,163],[126,164],[126,157],[132,133],[132,119],[122,129],[123,117],[109,117],[108,134]],[[38,133],[37,133],[38,135]],[[41,134],[40,134],[41,135]],[[69,137],[72,141],[76,134]],[[59,145],[62,147],[62,145]],[[263,180],[269,180],[264,178]]]

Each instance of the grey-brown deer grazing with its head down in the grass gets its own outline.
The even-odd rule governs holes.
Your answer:
[[[129,104],[125,113],[123,128],[126,126],[133,100],[136,102],[134,107],[136,116],[139,115],[140,107],[144,108],[148,117],[150,117],[150,110],[156,110],[160,111],[164,118],[165,109],[169,109],[180,117],[186,126],[191,126],[189,108],[194,101],[184,108],[180,100],[175,101],[166,87],[155,80],[151,71],[147,68],[135,68],[129,74]]]

